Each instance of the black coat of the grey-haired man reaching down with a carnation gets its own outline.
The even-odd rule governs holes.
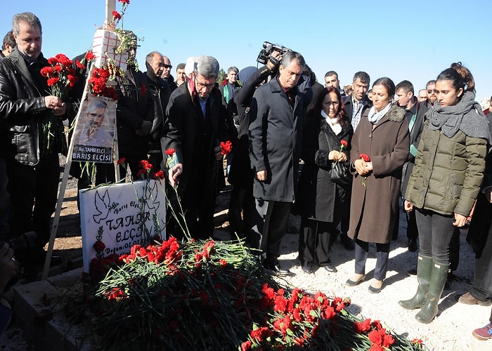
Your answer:
[[[215,199],[216,189],[221,186],[217,182],[224,183],[222,163],[216,160],[214,148],[228,138],[226,107],[222,105],[219,89],[212,89],[205,119],[198,97],[193,94],[192,98],[190,94],[189,84],[181,84],[171,93],[161,139],[162,150],[176,150],[176,156],[183,164],[179,190],[186,193],[186,201],[208,203]],[[207,199],[194,199],[198,192],[207,193]]]

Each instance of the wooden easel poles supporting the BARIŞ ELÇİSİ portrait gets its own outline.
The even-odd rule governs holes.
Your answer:
[[[106,15],[105,15],[105,25],[112,19],[112,11],[115,11],[116,0],[106,0]],[[89,74],[87,77],[91,77],[93,70],[93,65],[89,69]],[[77,112],[77,117],[75,117],[75,126],[77,126],[77,121],[79,120],[80,112],[82,111],[82,104],[86,101],[87,91],[89,91],[89,81],[86,81],[84,87],[84,93],[82,94],[82,100],[80,101],[79,111]],[[75,135],[75,130],[73,135]],[[115,128],[115,140],[113,140],[113,164],[115,165],[116,180],[119,180],[119,166],[116,162],[118,160],[118,136],[117,128]],[[65,164],[65,170],[63,171],[62,183],[60,184],[60,192],[58,192],[58,201],[56,202],[55,217],[53,218],[53,224],[51,225],[50,239],[48,242],[48,251],[46,252],[46,259],[44,260],[43,274],[41,275],[41,280],[48,278],[49,266],[51,264],[51,257],[53,256],[53,246],[55,246],[56,233],[58,232],[58,225],[60,223],[60,212],[63,204],[63,197],[65,196],[65,190],[67,188],[67,180],[70,172],[70,165],[72,164],[72,152],[74,148],[74,138],[70,140],[70,147],[68,147],[67,163]]]

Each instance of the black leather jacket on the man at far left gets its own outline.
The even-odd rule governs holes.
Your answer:
[[[41,67],[48,65],[40,59]],[[39,121],[46,116],[44,96],[49,95],[44,90],[37,86],[17,48],[0,60],[0,119],[7,135],[1,146],[6,158],[29,166],[39,162]]]

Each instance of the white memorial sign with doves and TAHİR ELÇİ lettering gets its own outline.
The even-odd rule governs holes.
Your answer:
[[[142,205],[143,204],[143,205]],[[100,256],[129,253],[136,244],[146,245],[153,237],[165,238],[166,199],[164,180],[141,180],[80,191],[82,258],[84,272]]]

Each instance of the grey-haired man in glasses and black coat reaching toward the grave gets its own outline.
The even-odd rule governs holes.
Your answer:
[[[190,81],[171,93],[161,139],[163,153],[174,149],[176,164],[167,164],[171,218],[167,233],[195,239],[212,237],[217,192],[225,185],[220,142],[226,142],[226,107],[215,87],[219,62],[212,56],[195,58]],[[170,159],[170,157],[168,156]],[[182,208],[182,211],[181,211]],[[184,213],[185,220],[181,215]]]

